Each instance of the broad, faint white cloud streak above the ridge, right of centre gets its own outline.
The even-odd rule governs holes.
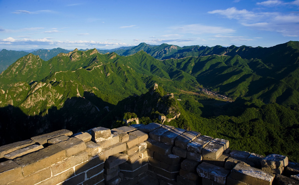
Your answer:
[[[183,32],[183,33],[193,33],[193,34],[205,34],[205,33],[224,34],[224,33],[235,32],[235,30],[231,29],[231,28],[224,28],[224,27],[218,27],[218,26],[207,26],[207,25],[202,25],[202,24],[189,24],[189,25],[183,25],[183,26],[174,26],[171,28],[176,31]]]

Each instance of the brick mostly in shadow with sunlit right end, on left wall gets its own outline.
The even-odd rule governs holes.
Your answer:
[[[77,165],[75,167],[75,174],[78,175],[78,174],[88,171],[89,169],[94,168],[96,166],[99,166],[99,165],[101,166],[104,164],[105,160],[106,160],[106,158],[102,153],[98,154],[97,156],[89,159],[88,161],[86,161],[80,165]]]

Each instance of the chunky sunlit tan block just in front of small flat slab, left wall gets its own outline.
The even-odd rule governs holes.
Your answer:
[[[59,143],[56,143],[55,145],[64,149],[67,157],[76,155],[86,150],[86,145],[84,141],[78,138],[69,138],[66,141],[61,141]]]

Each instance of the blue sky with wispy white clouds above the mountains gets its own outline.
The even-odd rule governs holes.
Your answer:
[[[299,0],[0,0],[0,49],[299,40]]]

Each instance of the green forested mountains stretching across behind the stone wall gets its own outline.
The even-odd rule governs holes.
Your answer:
[[[27,54],[0,75],[1,144],[63,128],[122,125],[125,112],[145,124],[179,112],[165,124],[227,138],[233,149],[299,161],[298,43],[197,50],[142,43],[122,51],[129,56],[116,53],[122,49],[75,49],[47,61]],[[187,56],[191,48],[196,56]],[[200,87],[235,101],[199,94]]]

